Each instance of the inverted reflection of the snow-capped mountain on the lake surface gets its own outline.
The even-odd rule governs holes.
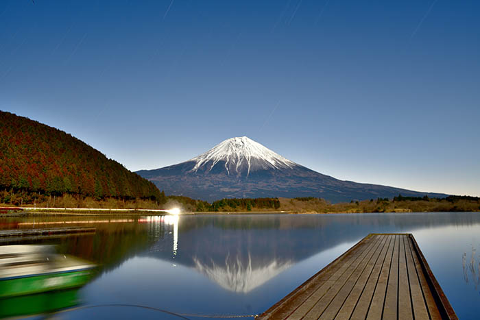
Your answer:
[[[173,226],[173,244],[168,249],[162,239],[141,255],[193,267],[222,288],[248,293],[293,264],[342,243],[355,243],[374,232],[371,218],[369,214],[336,214],[328,219],[317,219],[313,215],[152,219],[152,225],[163,225],[167,229]],[[384,220],[382,232],[411,231],[419,227],[420,221],[422,227],[453,222],[448,215],[435,215],[432,219],[426,214],[411,215],[409,219],[402,219],[398,214],[376,215],[376,218]],[[455,219],[455,224],[470,222],[468,215]]]

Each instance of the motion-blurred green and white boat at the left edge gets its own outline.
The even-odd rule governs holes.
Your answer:
[[[0,299],[79,288],[95,264],[56,254],[49,245],[0,246]]]

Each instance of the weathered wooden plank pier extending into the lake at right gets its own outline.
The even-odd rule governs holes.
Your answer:
[[[369,234],[259,319],[458,319],[411,234]]]

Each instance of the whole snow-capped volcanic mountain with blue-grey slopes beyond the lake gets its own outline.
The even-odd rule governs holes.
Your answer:
[[[136,171],[167,195],[214,201],[222,198],[320,197],[332,202],[404,197],[446,197],[378,184],[335,179],[292,162],[243,136],[185,162]]]

